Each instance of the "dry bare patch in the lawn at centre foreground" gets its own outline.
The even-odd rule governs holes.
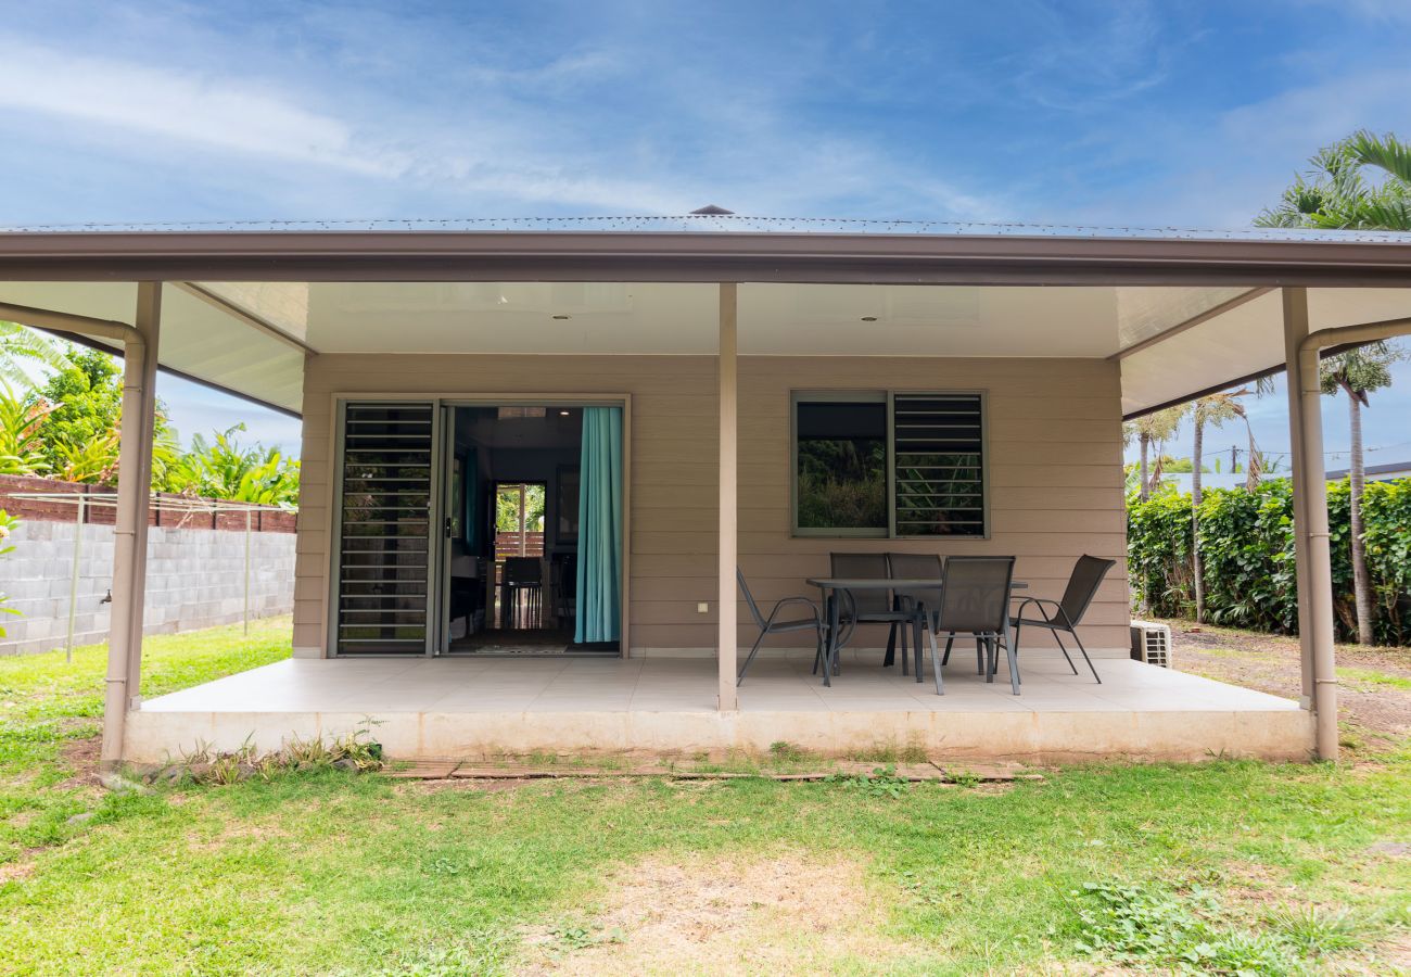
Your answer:
[[[921,953],[882,932],[883,899],[847,858],[649,858],[607,880],[602,911],[525,932],[523,974],[886,970]]]

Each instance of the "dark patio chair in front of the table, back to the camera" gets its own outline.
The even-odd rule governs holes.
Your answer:
[[[988,651],[985,681],[995,681],[999,666],[998,647],[1005,645],[1009,659],[1009,686],[1019,695],[1019,661],[1009,637],[1009,592],[1015,582],[1013,556],[950,556],[941,575],[940,614],[935,633],[948,641],[958,634],[974,634]],[[931,671],[935,693],[941,692],[941,661],[931,641]]]

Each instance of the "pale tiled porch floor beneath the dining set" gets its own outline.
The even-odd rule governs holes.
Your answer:
[[[861,661],[859,661],[861,657]],[[1102,685],[1074,675],[1057,654],[1022,662],[1022,695],[1000,665],[975,673],[974,649],[943,671],[945,695],[880,668],[873,652],[844,661],[825,688],[811,654],[761,658],[739,688],[745,712],[1264,712],[1297,709],[1276,696],[1127,659],[1098,661]],[[144,712],[714,712],[715,662],[707,658],[288,659],[152,699]]]

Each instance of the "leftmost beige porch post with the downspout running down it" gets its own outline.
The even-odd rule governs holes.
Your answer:
[[[143,601],[147,593],[147,507],[152,483],[161,282],[137,284],[135,335],[123,350],[123,429],[117,462],[113,617],[109,624],[103,765],[123,760],[127,713],[141,689]]]

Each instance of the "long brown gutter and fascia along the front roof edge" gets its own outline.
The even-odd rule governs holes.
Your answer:
[[[16,281],[1411,285],[1411,243],[631,232],[0,234]]]

